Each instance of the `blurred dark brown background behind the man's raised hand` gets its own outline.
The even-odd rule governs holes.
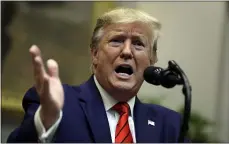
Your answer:
[[[92,2],[1,2],[2,142],[22,120],[21,100],[33,86],[28,49],[40,47],[44,60],[56,59],[64,83],[90,75]],[[83,15],[82,15],[83,14]],[[80,75],[75,78],[74,76]],[[5,97],[4,97],[5,96]]]

